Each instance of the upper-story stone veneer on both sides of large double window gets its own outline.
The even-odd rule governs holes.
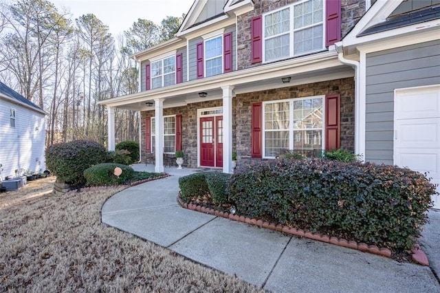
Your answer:
[[[251,20],[260,14],[276,10],[299,0],[254,0],[254,10],[236,18],[237,69],[261,65],[251,63]],[[323,0],[325,1],[325,0]],[[365,0],[341,0],[341,36],[349,33],[365,12]]]

